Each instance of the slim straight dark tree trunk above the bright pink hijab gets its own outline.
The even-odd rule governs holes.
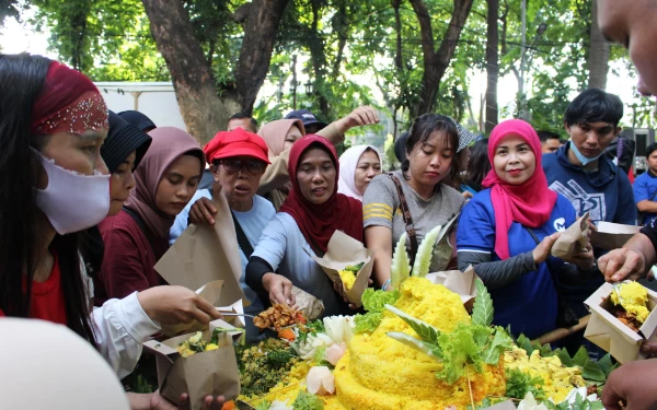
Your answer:
[[[499,15],[499,0],[487,0],[488,12],[486,23],[486,134],[491,134],[497,125],[497,80],[499,79],[498,47],[499,32],[497,21]]]

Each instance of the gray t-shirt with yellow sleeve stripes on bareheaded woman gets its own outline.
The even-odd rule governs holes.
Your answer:
[[[417,234],[417,245],[422,244],[425,235],[438,225],[445,225],[453,219],[463,207],[464,199],[459,191],[439,184],[431,199],[426,200],[408,186],[401,171],[392,173],[402,183],[402,190],[408,203],[408,210],[413,218],[413,225]],[[371,180],[362,198],[362,220],[365,227],[387,226],[392,230],[392,246],[400,241],[406,232],[406,224],[402,215],[400,196],[396,186],[385,174],[378,175]],[[450,232],[456,232],[457,224],[453,223]],[[434,249],[431,260],[431,272],[445,270],[451,256],[451,247],[447,243],[446,235],[440,244]],[[411,241],[406,241],[406,250],[411,255]]]

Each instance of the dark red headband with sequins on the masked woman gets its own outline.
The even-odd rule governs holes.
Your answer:
[[[33,136],[82,134],[108,129],[107,106],[99,89],[79,71],[53,61],[32,108]]]

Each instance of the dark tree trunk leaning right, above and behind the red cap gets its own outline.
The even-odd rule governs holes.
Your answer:
[[[234,72],[238,101],[243,112],[253,110],[257,93],[265,82],[287,3],[288,0],[253,0],[249,5],[246,21],[242,24],[244,39]]]

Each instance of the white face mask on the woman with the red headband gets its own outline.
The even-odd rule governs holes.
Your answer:
[[[58,234],[83,231],[105,219],[111,203],[110,175],[81,175],[34,152],[48,175],[46,189],[36,189],[36,206]]]

